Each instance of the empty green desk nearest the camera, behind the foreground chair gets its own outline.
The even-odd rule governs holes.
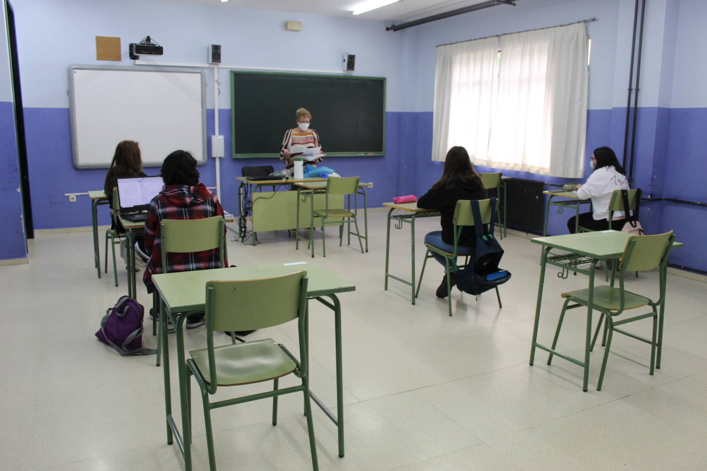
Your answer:
[[[297,263],[286,265],[274,263],[271,265],[255,265],[231,268],[216,268],[214,270],[198,270],[177,273],[162,273],[153,275],[152,280],[160,296],[160,313],[170,316],[176,333],[177,347],[177,372],[180,384],[180,404],[182,411],[182,436],[172,414],[170,391],[170,364],[169,342],[167,340],[167,316],[160,315],[160,335],[162,335],[163,369],[165,378],[165,415],[167,421],[167,443],[177,439],[177,445],[182,452],[187,470],[191,469],[192,455],[189,436],[189,415],[186,412],[187,397],[186,381],[187,371],[185,366],[184,349],[184,321],[188,314],[204,311],[206,300],[206,282],[209,280],[253,280],[270,278],[287,273],[306,270],[309,278],[308,299],[317,299],[334,311],[334,340],[336,342],[337,360],[337,415],[322,403],[314,393],[310,393],[312,400],[322,408],[327,417],[337,425],[339,438],[339,456],[344,456],[344,382],[343,366],[341,360],[341,304],[338,293],[355,291],[356,286],[328,270],[319,268],[311,263]],[[325,299],[329,298],[329,300]],[[214,333],[214,335],[217,335]],[[228,337],[223,335],[223,343]]]

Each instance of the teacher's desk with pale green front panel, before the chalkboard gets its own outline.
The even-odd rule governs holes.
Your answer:
[[[240,237],[240,242],[245,242],[247,219],[250,211],[253,245],[257,244],[258,232],[295,229],[295,206],[297,204],[295,200],[297,192],[284,191],[280,189],[281,186],[312,181],[327,181],[323,178],[251,180],[247,177],[235,177],[235,179],[240,181],[238,185],[238,237]],[[271,186],[273,191],[254,192],[263,186]],[[343,198],[341,201],[343,201]],[[343,208],[343,203],[335,207]],[[305,210],[308,209],[305,208]],[[306,217],[305,215],[302,216],[304,217],[303,220],[310,220],[309,213],[306,214]]]

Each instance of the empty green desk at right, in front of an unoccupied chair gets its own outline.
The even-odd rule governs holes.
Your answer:
[[[592,341],[592,299],[594,297],[594,273],[597,262],[607,261],[614,258],[620,258],[624,254],[626,241],[632,234],[628,232],[620,232],[613,230],[597,231],[597,232],[580,232],[578,234],[564,234],[550,237],[537,237],[531,242],[542,246],[542,258],[540,261],[540,281],[537,290],[537,304],[535,306],[535,321],[532,330],[532,345],[530,347],[530,364],[532,365],[535,357],[536,347],[556,354],[558,357],[568,360],[574,364],[582,366],[584,369],[584,379],[582,390],[586,391],[589,381],[589,353]],[[682,247],[679,242],[673,243],[673,248]],[[563,254],[550,254],[551,249],[557,249]],[[589,268],[580,268],[580,265],[589,263]],[[589,275],[589,299],[587,308],[587,331],[585,338],[584,361],[575,359],[566,354],[557,352],[541,343],[537,342],[537,327],[540,320],[540,308],[542,305],[542,291],[545,279],[545,267],[547,265],[557,266],[562,269],[558,273],[559,278],[567,278],[570,271],[584,273]],[[616,267],[616,264],[614,264]],[[614,268],[615,269],[615,268]],[[614,276],[612,276],[611,285],[614,285]],[[665,311],[665,303],[660,306],[659,337],[662,338],[663,315]]]

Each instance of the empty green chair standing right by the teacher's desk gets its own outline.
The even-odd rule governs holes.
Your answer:
[[[356,213],[352,213],[349,209],[332,209],[329,208],[329,195],[354,195],[356,197],[356,192],[358,191],[358,181],[360,177],[329,177],[327,179],[327,191],[325,193],[325,207],[320,209],[312,210],[312,217],[310,218],[310,234],[309,234],[309,244],[308,246],[312,249],[312,257],[314,256],[314,227],[315,227],[315,217],[319,217],[321,220],[322,227],[322,254],[327,256],[327,242],[325,227],[327,225],[338,225],[339,226],[339,246],[344,241],[344,224],[348,224],[348,232],[351,234],[351,222],[354,222],[356,227],[356,237],[358,238],[358,245],[361,246],[361,254],[363,254],[363,243],[361,242],[361,232],[358,230],[358,220],[356,220]],[[314,194],[312,192],[312,198]],[[344,221],[346,220],[346,221]],[[299,239],[295,244],[295,248],[299,248]]]

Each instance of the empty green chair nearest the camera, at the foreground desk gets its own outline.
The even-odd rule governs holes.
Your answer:
[[[189,352],[191,358],[187,359],[187,397],[191,397],[189,388],[191,376],[194,376],[204,405],[206,443],[209,447],[211,470],[216,470],[211,410],[251,400],[273,398],[272,424],[276,425],[278,396],[300,391],[304,394],[312,467],[318,469],[308,376],[307,280],[307,272],[300,271],[262,280],[206,283],[206,348]],[[277,293],[277,296],[273,296],[273,293]],[[214,345],[215,330],[261,329],[279,326],[293,319],[298,321],[299,360],[284,345],[271,338],[221,347]],[[292,373],[300,378],[302,383],[279,389],[279,378]],[[274,383],[272,390],[214,403],[209,401],[209,397],[216,394],[219,387],[271,380]],[[190,407],[187,405],[188,409]],[[191,427],[191,410],[182,410],[182,414],[185,413],[189,414]],[[193,436],[191,430],[189,436]]]

